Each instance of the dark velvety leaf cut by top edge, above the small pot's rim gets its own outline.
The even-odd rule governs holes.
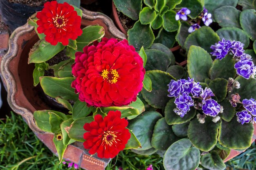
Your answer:
[[[139,19],[139,12],[142,8],[142,0],[113,0],[113,2],[117,7],[117,10],[124,13],[124,15],[132,18],[132,20]]]

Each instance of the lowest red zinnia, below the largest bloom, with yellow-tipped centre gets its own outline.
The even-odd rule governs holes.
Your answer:
[[[130,132],[126,129],[128,121],[121,117],[121,112],[109,111],[108,115],[102,118],[96,115],[94,121],[86,123],[83,128],[85,149],[90,149],[91,155],[97,152],[99,158],[113,158],[120,150],[124,150],[130,139]]]

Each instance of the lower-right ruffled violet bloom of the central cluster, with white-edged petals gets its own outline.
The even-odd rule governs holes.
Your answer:
[[[213,99],[208,99],[202,106],[203,113],[212,117],[216,117],[220,113],[220,104]]]

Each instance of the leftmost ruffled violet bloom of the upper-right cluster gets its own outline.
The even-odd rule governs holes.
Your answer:
[[[215,45],[211,45],[210,48],[213,50],[211,54],[213,56],[216,56],[216,58],[218,58],[219,60],[222,60],[222,58],[224,58],[229,53],[231,46],[232,46],[232,42],[222,38],[222,40],[219,41],[218,43],[215,43]]]

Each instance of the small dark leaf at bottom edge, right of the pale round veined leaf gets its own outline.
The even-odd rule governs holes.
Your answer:
[[[215,151],[202,155],[201,163],[202,166],[209,170],[224,170],[226,168],[225,163]]]

